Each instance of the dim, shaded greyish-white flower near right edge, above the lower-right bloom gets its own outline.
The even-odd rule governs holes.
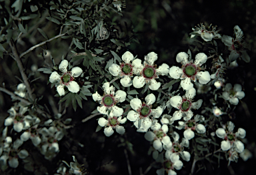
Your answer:
[[[225,86],[225,92],[222,93],[224,100],[229,100],[233,105],[237,105],[239,99],[245,97],[245,92],[242,91],[242,87],[239,84],[235,84],[234,87],[230,83]]]

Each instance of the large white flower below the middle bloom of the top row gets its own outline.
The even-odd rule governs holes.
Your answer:
[[[158,106],[155,109],[152,109],[152,104],[155,102],[155,95],[148,94],[145,98],[146,103],[142,103],[139,98],[133,98],[130,101],[131,108],[127,114],[127,119],[131,122],[134,122],[134,125],[138,132],[147,132],[147,130],[151,127],[152,121],[150,116],[154,118],[159,118],[163,113],[163,108]],[[139,126],[140,125],[140,126]]]

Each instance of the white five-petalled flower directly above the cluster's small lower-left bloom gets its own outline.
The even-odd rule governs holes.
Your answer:
[[[116,106],[118,102],[125,101],[126,92],[123,90],[117,90],[113,86],[109,86],[109,83],[103,84],[104,94],[101,96],[98,92],[93,94],[93,100],[98,101],[101,106],[97,107],[97,110],[101,114],[113,113],[113,116],[121,116],[123,114],[123,108]]]

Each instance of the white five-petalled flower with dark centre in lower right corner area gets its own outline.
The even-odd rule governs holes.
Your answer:
[[[228,122],[227,129],[218,128],[216,130],[216,135],[219,138],[223,138],[221,142],[221,150],[229,150],[230,148],[234,148],[235,151],[241,153],[243,152],[245,146],[243,142],[238,140],[238,138],[245,138],[246,132],[243,128],[238,128],[237,132],[233,133],[235,125],[233,122]]]

